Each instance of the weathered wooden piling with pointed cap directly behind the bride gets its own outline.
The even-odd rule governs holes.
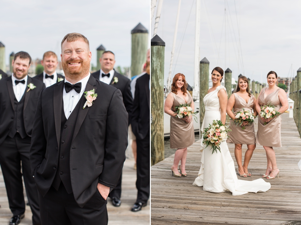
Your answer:
[[[205,105],[203,102],[203,98],[207,94],[207,91],[209,89],[209,61],[205,57],[200,61],[200,107],[199,107],[199,115],[200,115],[200,127],[202,127],[203,119],[205,116]],[[196,111],[196,110],[195,110]],[[201,133],[201,132],[200,132]]]

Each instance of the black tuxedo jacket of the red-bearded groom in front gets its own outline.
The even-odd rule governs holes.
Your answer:
[[[45,88],[34,117],[29,152],[32,175],[43,196],[53,183],[59,158],[64,81]],[[70,148],[70,177],[73,195],[80,207],[95,194],[97,184],[115,188],[127,148],[127,118],[121,92],[90,76],[85,91],[95,89],[91,107],[79,101]]]

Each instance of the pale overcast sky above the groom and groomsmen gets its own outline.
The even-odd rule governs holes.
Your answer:
[[[94,65],[96,49],[102,44],[115,53],[115,66],[130,66],[131,30],[139,22],[150,30],[149,1],[0,0],[0,8],[6,64],[12,51],[26,51],[33,59],[41,59],[51,50],[60,58],[62,39],[77,32],[88,38]]]

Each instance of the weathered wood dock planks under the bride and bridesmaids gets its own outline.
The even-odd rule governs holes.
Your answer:
[[[257,194],[233,196],[231,192],[211,193],[193,186],[200,169],[200,141],[188,148],[187,177],[172,176],[174,155],[155,164],[151,167],[151,224],[301,224],[301,171],[297,166],[301,139],[288,113],[282,116],[281,141],[282,147],[274,148],[279,179],[270,180],[271,189]],[[237,168],[234,144],[228,146]],[[246,147],[243,145],[243,156]],[[257,146],[248,166],[252,176],[238,179],[260,178],[266,162],[264,148]]]

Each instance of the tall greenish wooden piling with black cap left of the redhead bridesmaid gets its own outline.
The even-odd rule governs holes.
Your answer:
[[[165,42],[151,39],[151,165],[164,160],[164,53]]]

